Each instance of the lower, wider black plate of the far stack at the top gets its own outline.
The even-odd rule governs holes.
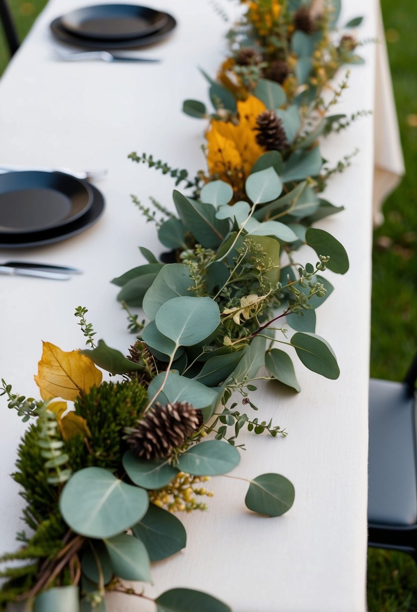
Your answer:
[[[75,36],[62,26],[62,17],[57,17],[51,23],[51,30],[54,36],[61,40],[62,42],[67,43],[68,45],[75,45],[75,47],[81,47],[86,49],[95,49],[98,51],[111,51],[116,49],[133,49],[135,47],[145,47],[146,45],[153,45],[153,43],[160,42],[161,40],[166,39],[166,37],[171,34],[172,30],[177,25],[174,17],[166,13],[167,21],[166,24],[158,30],[157,32],[153,32],[153,34],[149,34],[147,36],[141,36],[136,39],[127,39],[127,40],[89,40],[82,39],[79,36]]]

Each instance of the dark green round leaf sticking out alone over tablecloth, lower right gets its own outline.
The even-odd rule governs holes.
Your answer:
[[[251,480],[245,504],[253,512],[281,517],[292,506],[294,496],[293,484],[285,476],[262,474]]]

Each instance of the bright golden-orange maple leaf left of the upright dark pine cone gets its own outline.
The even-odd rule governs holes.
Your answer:
[[[252,166],[264,153],[264,147],[256,142],[256,118],[266,109],[264,102],[254,95],[237,102],[238,125],[212,119],[207,132],[207,164],[210,176],[216,175],[229,182],[235,190],[249,176]]]

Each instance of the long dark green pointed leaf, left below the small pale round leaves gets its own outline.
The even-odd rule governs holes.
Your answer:
[[[180,219],[197,242],[206,248],[218,247],[229,232],[229,223],[216,218],[212,204],[191,200],[177,190],[173,195]]]

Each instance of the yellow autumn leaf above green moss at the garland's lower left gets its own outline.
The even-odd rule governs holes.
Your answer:
[[[50,342],[43,342],[42,359],[34,377],[43,400],[62,397],[75,400],[81,391],[101,383],[101,372],[91,359],[79,351],[62,351]]]

